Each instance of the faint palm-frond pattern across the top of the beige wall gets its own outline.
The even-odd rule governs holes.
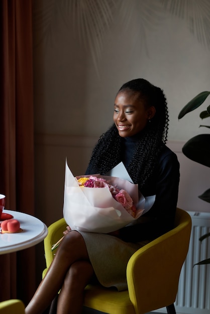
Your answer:
[[[166,12],[185,19],[189,31],[210,49],[209,0],[48,0],[34,1],[34,45],[54,43],[57,19],[90,52],[96,71],[103,49],[104,35],[118,24],[121,31],[133,28],[134,42],[141,42],[147,54],[146,32],[163,23]]]

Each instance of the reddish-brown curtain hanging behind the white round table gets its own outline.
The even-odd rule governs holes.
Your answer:
[[[0,193],[7,209],[34,215],[32,0],[1,0],[0,10]],[[1,300],[27,303],[35,249],[0,255],[0,269]]]

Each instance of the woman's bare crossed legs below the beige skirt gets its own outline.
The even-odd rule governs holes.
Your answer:
[[[79,314],[84,288],[93,273],[83,237],[77,231],[68,232],[60,243],[44,279],[26,307],[26,314],[42,313],[60,288],[57,314]]]

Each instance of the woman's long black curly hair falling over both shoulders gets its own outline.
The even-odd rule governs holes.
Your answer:
[[[144,100],[146,107],[154,106],[156,109],[154,117],[139,133],[138,144],[127,167],[133,182],[139,183],[141,188],[151,176],[160,150],[167,141],[169,121],[167,101],[163,90],[141,78],[125,83],[118,93],[124,91],[138,93],[139,99]],[[97,169],[99,174],[104,175],[117,166],[122,161],[123,140],[113,124],[100,136],[93,149],[89,163],[91,169]]]

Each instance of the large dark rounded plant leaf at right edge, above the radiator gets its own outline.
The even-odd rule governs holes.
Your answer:
[[[189,139],[182,147],[190,160],[210,168],[210,134],[199,134]]]

